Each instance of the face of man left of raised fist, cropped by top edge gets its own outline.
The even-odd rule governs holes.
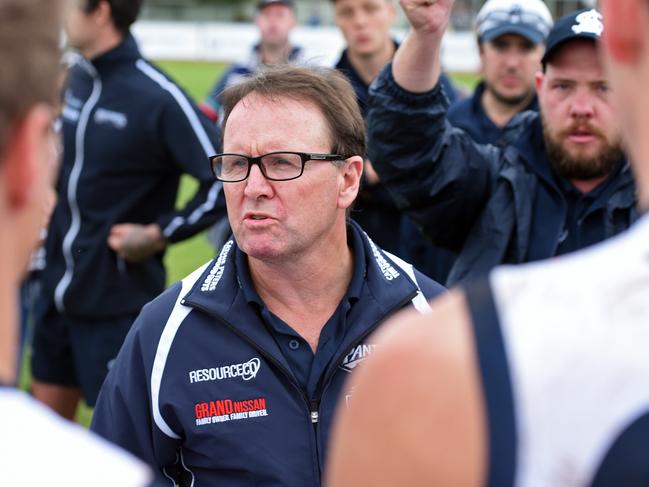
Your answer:
[[[331,1],[336,25],[352,55],[372,56],[392,44],[390,28],[396,16],[392,0]]]

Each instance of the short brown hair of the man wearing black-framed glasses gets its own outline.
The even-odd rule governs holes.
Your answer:
[[[262,69],[222,93],[223,132],[232,109],[251,93],[268,100],[289,98],[313,103],[329,126],[331,152],[345,158],[365,157],[365,126],[356,94],[347,78],[338,71],[292,65]]]

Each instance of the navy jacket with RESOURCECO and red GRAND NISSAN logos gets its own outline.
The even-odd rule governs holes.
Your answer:
[[[217,259],[144,307],[104,383],[92,429],[181,486],[319,486],[334,410],[353,400],[346,379],[374,350],[370,334],[411,303],[425,311],[426,298],[443,290],[353,222],[349,232],[360,242],[362,287],[313,394],[246,299],[240,250],[230,240]]]

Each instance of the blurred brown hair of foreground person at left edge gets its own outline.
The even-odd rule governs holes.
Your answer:
[[[0,154],[36,103],[54,103],[61,12],[57,0],[0,0]]]

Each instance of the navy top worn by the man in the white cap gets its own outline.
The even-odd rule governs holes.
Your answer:
[[[476,86],[473,95],[451,105],[447,118],[451,125],[467,132],[479,144],[498,145],[503,136],[505,127],[498,127],[487,116],[482,106],[482,94],[485,83],[481,81]],[[525,110],[539,111],[539,103],[534,95]]]

